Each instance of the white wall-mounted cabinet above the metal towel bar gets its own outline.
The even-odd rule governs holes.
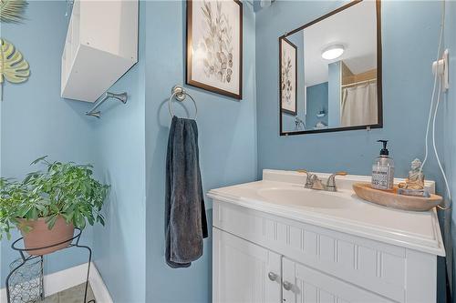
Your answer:
[[[138,5],[74,2],[62,54],[62,97],[95,102],[138,62]]]

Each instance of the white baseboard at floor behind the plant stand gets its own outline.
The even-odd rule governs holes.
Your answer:
[[[45,276],[45,295],[51,296],[65,290],[73,288],[86,281],[88,263],[78,265],[74,268],[67,268],[65,270],[57,271],[53,274]],[[98,269],[93,262],[90,264],[90,274],[88,276],[90,287],[97,303],[112,303],[112,298],[109,295],[108,288],[106,288],[103,279],[98,273]],[[0,303],[6,303],[6,289],[0,289]]]

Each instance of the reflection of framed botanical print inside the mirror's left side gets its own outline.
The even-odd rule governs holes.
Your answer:
[[[279,39],[280,110],[297,115],[297,48],[285,37]]]

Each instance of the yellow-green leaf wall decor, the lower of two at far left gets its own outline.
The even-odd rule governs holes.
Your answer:
[[[30,76],[28,62],[24,59],[16,46],[0,39],[0,100],[3,99],[3,85],[5,80],[10,83],[26,82]]]

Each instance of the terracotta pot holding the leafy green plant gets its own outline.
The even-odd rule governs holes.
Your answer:
[[[21,226],[31,227],[31,230],[28,232],[19,227],[21,234],[24,237],[26,249],[52,246],[67,239],[71,239],[75,232],[73,224],[67,224],[63,217],[57,217],[56,224],[50,230],[47,228],[46,217],[40,217],[37,220],[31,221],[19,219],[19,222]],[[71,240],[68,240],[56,247],[27,250],[27,253],[32,256],[47,255],[58,249],[67,247],[70,243]]]

